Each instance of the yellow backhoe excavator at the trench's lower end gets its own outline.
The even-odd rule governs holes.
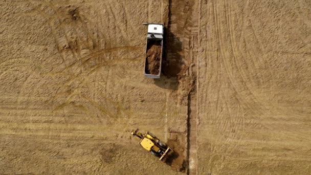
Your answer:
[[[173,150],[168,147],[165,143],[160,141],[153,134],[146,132],[146,134],[141,134],[138,132],[139,129],[132,130],[131,134],[140,138],[139,144],[151,152],[152,155],[159,157],[160,160],[168,155],[168,152],[173,152]]]

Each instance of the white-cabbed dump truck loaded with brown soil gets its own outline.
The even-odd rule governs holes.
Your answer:
[[[164,25],[144,23],[148,26],[144,75],[147,78],[160,78],[163,52]]]

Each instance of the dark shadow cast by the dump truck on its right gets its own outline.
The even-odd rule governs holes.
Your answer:
[[[183,43],[169,29],[164,30],[162,71],[159,79],[154,79],[154,83],[161,88],[178,90],[178,74],[183,65],[182,55]]]

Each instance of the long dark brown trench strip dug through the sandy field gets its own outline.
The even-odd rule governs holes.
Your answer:
[[[167,61],[189,66],[192,88],[188,90],[187,174],[197,174],[196,135],[196,61],[198,35],[198,4],[194,0],[169,0]],[[172,66],[175,68],[174,66]],[[178,71],[177,71],[178,72]]]

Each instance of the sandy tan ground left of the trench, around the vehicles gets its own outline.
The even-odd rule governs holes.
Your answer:
[[[164,141],[169,131],[185,138],[175,80],[143,76],[141,23],[162,22],[168,3],[0,7],[0,174],[178,174],[130,137],[139,127]]]

